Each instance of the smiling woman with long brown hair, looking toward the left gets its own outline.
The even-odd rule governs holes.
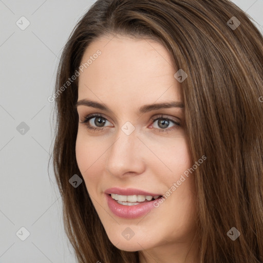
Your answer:
[[[52,97],[78,262],[263,262],[262,46],[228,0],[92,5]]]

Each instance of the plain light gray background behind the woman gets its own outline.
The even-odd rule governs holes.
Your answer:
[[[76,262],[52,166],[51,181],[47,172],[53,143],[47,98],[62,48],[94,2],[0,0],[0,263]],[[263,0],[233,2],[263,33]],[[30,22],[25,30],[22,16]]]

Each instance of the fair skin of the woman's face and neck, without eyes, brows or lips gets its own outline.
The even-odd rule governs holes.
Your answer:
[[[181,108],[162,108],[138,114],[145,104],[182,101],[180,83],[168,51],[161,44],[128,36],[103,36],[86,49],[82,63],[101,50],[79,77],[79,97],[107,105],[110,111],[78,106],[76,157],[87,191],[110,241],[120,250],[141,251],[140,262],[197,262],[196,191],[194,173],[147,215],[125,219],[112,214],[104,191],[110,187],[165,195],[187,168],[192,167]],[[104,129],[89,130],[81,123],[89,114],[106,119]],[[176,121],[162,126],[160,115]],[[102,128],[98,117],[89,120]],[[103,119],[103,120],[105,120]],[[135,127],[126,135],[121,127]],[[162,130],[169,132],[160,132]],[[135,235],[122,236],[129,227]],[[192,245],[192,247],[191,247]]]

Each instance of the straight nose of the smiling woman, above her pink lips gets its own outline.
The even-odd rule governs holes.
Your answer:
[[[137,137],[136,130],[125,134],[120,128],[116,140],[107,151],[106,170],[114,176],[139,175],[145,168],[145,145]]]

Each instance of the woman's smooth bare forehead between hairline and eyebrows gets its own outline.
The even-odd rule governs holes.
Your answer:
[[[104,36],[88,46],[81,65],[84,63],[79,100],[121,102],[122,106],[181,101],[170,54],[153,40]]]

